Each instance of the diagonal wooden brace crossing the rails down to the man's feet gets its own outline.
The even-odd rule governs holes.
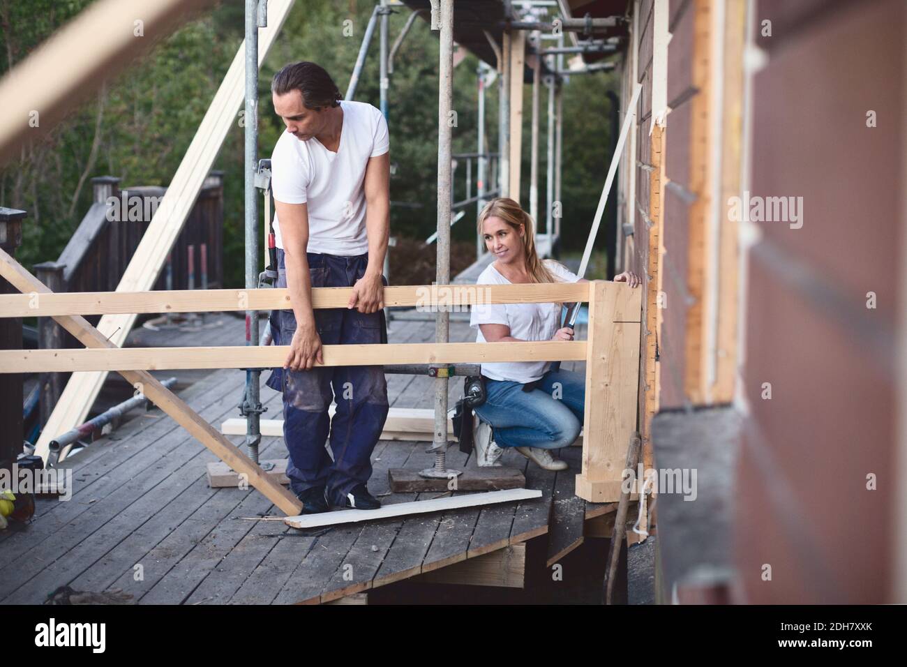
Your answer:
[[[0,250],[0,275],[8,280],[15,289],[24,293],[48,294],[51,291],[44,286],[44,283],[24,270],[22,265],[4,250]],[[116,347],[80,315],[54,316],[54,319],[86,348]],[[277,505],[282,512],[289,516],[299,514],[302,504],[297,498],[270,479],[258,464],[243,454],[226,437],[220,435],[217,429],[202,419],[185,401],[161,385],[151,373],[143,370],[122,370],[119,373],[133,387],[139,388],[141,393],[154,405],[160,407],[177,424],[189,431],[191,436],[214,452],[221,461],[240,475],[248,476],[249,484],[258,489],[274,505]]]

